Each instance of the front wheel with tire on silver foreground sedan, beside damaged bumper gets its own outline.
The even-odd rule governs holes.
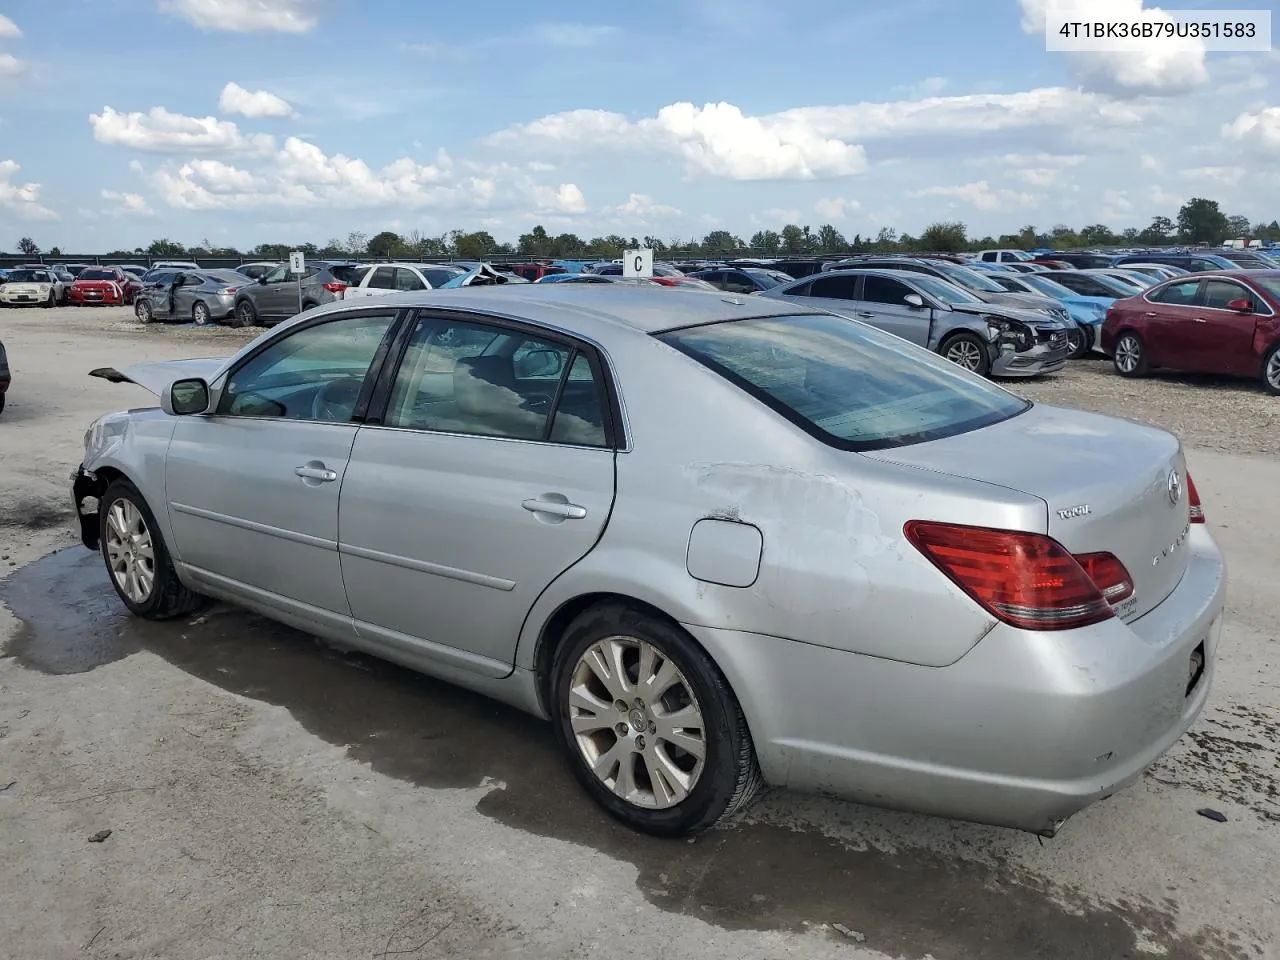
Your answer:
[[[170,620],[207,603],[178,580],[155,515],[138,488],[128,480],[113,483],[99,502],[97,516],[102,562],[129,613]]]

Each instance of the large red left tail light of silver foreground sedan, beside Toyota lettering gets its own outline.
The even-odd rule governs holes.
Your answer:
[[[909,521],[902,532],[956,586],[1010,626],[1073,630],[1115,616],[1080,561],[1042,534],[923,520]],[[1117,585],[1116,568],[1124,571],[1119,561],[1085,559],[1112,580],[1110,586]]]

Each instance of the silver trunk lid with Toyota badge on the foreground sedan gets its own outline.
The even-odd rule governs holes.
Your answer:
[[[1105,550],[1124,563],[1134,593],[1116,607],[1121,620],[1156,607],[1187,570],[1187,465],[1164,430],[1038,404],[1002,424],[864,456],[1038,497],[1044,532],[1071,553]]]

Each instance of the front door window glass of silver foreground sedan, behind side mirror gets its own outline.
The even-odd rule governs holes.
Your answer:
[[[347,316],[282,337],[236,369],[218,415],[349,421],[394,319],[394,312]]]

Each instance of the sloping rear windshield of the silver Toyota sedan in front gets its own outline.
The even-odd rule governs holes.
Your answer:
[[[840,449],[954,436],[1030,407],[892,334],[827,314],[730,320],[659,339]]]

